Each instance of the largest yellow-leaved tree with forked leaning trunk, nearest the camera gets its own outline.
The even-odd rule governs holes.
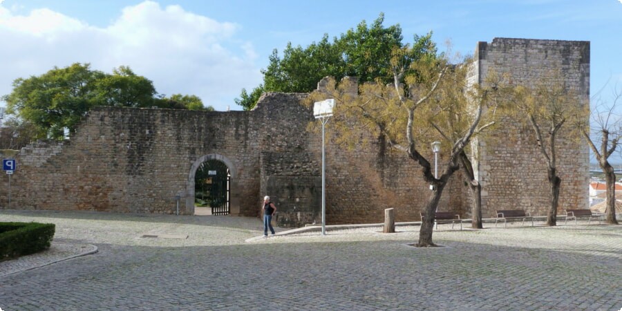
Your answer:
[[[418,247],[436,246],[432,240],[435,211],[442,192],[460,169],[461,156],[471,139],[493,122],[485,122],[489,109],[489,91],[467,89],[463,66],[449,66],[444,57],[423,53],[430,46],[396,47],[393,50],[391,72],[393,84],[381,82],[363,84],[359,94],[350,93],[348,81],[336,86],[332,80],[329,94],[312,94],[308,102],[332,97],[336,100],[335,119],[344,124],[335,126],[341,140],[352,142],[354,129],[368,131],[388,147],[406,153],[413,164],[421,167],[422,178],[433,185],[431,196],[422,211]],[[470,98],[470,100],[469,100]],[[482,125],[483,124],[483,125]],[[433,140],[443,140],[449,149],[440,176],[435,177],[430,161],[424,156]]]

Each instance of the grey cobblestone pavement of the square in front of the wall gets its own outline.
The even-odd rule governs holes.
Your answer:
[[[258,218],[0,211],[0,221],[55,223],[55,243],[98,249],[0,276],[2,310],[622,308],[622,225],[440,225],[444,247],[421,249],[408,245],[417,226],[252,239]],[[163,234],[188,237],[141,237]]]

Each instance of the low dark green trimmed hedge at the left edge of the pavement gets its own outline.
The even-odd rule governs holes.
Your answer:
[[[50,248],[53,223],[0,223],[0,261]]]

